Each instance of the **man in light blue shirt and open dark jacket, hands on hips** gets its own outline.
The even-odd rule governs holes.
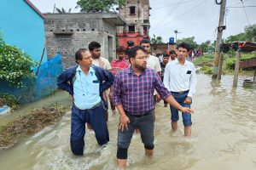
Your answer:
[[[63,71],[57,85],[73,96],[70,145],[73,154],[81,156],[86,122],[95,131],[98,144],[109,141],[102,93],[112,86],[114,77],[109,71],[92,65],[91,54],[85,48],[76,52],[75,59],[78,65]]]

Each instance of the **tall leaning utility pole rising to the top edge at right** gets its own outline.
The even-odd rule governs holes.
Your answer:
[[[224,15],[226,10],[226,0],[215,0],[216,4],[220,4],[220,12],[219,12],[219,20],[218,20],[218,33],[217,33],[217,41],[215,47],[215,56],[214,56],[214,66],[212,71],[212,78],[216,79],[218,77],[218,63],[220,56],[220,44],[222,41],[222,32],[226,29],[224,26]]]

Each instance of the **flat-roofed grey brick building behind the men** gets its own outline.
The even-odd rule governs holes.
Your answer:
[[[101,43],[102,56],[115,56],[115,26],[103,14],[45,14],[45,41],[49,59],[61,54],[64,67],[75,65],[74,54],[88,48],[92,41]],[[108,41],[112,42],[108,42]],[[112,46],[109,46],[109,43]],[[110,47],[110,48],[109,48]],[[110,56],[112,55],[112,56]]]

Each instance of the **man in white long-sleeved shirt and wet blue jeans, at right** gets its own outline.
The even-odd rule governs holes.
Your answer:
[[[186,57],[189,54],[189,44],[182,42],[177,45],[177,59],[166,65],[164,74],[164,85],[172,93],[172,96],[183,107],[189,107],[192,104],[192,97],[195,94],[195,66],[188,61]],[[177,130],[178,111],[170,107],[172,113],[172,130]],[[191,136],[191,115],[182,113],[184,135]]]

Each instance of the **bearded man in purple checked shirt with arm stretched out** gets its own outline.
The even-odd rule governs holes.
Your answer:
[[[154,151],[154,88],[170,105],[179,111],[192,113],[179,105],[165,88],[157,73],[147,68],[147,52],[142,47],[130,49],[131,67],[119,71],[113,82],[113,105],[119,111],[118,166],[125,167],[127,151],[135,128],[141,132],[146,156]]]

